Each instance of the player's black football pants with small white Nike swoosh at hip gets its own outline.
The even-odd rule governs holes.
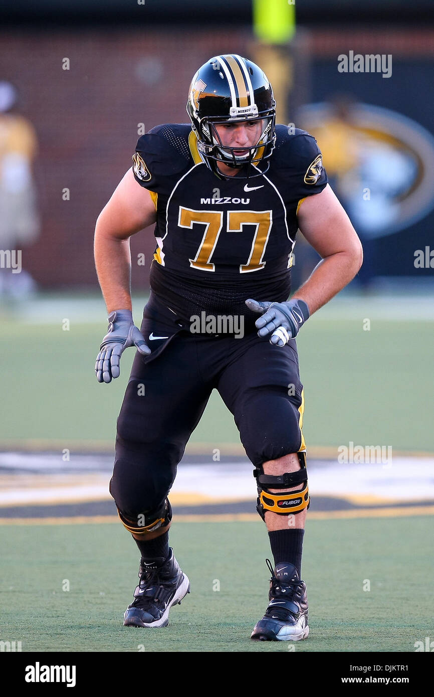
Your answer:
[[[168,495],[213,388],[254,466],[304,448],[295,340],[279,348],[256,331],[215,337],[192,334],[178,322],[151,293],[141,332],[152,353],[134,358],[110,482],[118,509],[132,519],[156,510]]]

